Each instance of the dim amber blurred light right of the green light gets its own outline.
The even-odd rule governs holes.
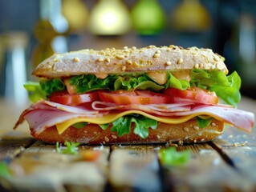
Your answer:
[[[210,26],[209,13],[199,0],[183,0],[171,16],[171,26],[176,30],[199,32]]]

